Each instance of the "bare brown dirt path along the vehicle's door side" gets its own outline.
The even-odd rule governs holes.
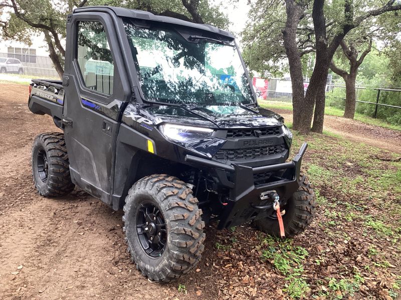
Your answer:
[[[0,299],[168,296],[133,271],[120,212],[77,189],[56,200],[36,194],[32,140],[56,127],[28,110],[27,86],[1,85]]]

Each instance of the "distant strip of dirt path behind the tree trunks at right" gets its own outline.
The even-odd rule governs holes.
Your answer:
[[[286,121],[292,122],[291,110],[272,110],[284,116]],[[369,125],[357,120],[333,115],[324,116],[324,130],[329,130],[332,133],[342,135],[353,141],[401,153],[401,131]]]

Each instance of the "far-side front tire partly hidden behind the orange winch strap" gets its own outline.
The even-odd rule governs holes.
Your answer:
[[[305,231],[315,216],[315,192],[308,177],[300,174],[300,185],[285,206],[283,223],[286,237],[293,237]],[[280,227],[277,218],[263,218],[255,221],[256,227],[270,235],[280,236]]]

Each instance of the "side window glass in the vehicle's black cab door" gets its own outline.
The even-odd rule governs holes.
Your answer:
[[[77,60],[86,87],[113,93],[114,62],[101,22],[78,22]]]

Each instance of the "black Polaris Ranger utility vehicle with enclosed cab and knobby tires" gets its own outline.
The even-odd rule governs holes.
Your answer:
[[[258,106],[227,31],[77,8],[67,17],[62,80],[33,80],[29,108],[63,131],[34,141],[39,193],[78,185],[123,208],[128,251],[151,280],[171,281],[200,260],[205,222],[252,221],[293,236],[313,218],[314,192],[300,172],[307,145],[286,162],[292,133]]]

